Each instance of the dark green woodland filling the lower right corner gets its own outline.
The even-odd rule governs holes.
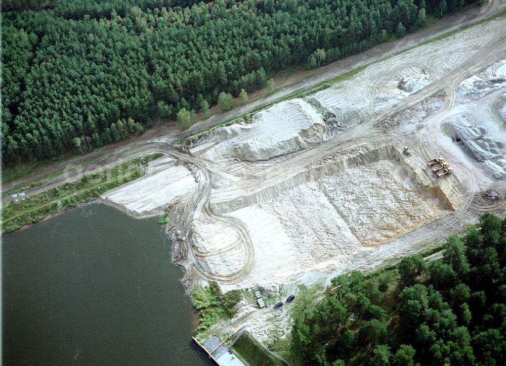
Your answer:
[[[332,366],[505,364],[505,273],[506,219],[485,214],[440,260],[333,279],[340,287],[294,319],[291,351]]]

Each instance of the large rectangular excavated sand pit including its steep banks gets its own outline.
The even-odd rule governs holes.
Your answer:
[[[249,255],[255,255],[254,266],[224,289],[344,268],[353,255],[453,209],[444,191],[420,179],[392,145],[353,149],[256,192],[219,197],[212,195],[212,212],[241,220],[254,247]],[[244,265],[247,251],[230,227],[202,214],[192,230],[192,245],[206,269],[226,275]]]

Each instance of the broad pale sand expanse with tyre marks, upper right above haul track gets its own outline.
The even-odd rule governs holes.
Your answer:
[[[498,24],[501,23],[501,24]],[[493,39],[504,22],[491,22],[477,29],[432,42],[424,47],[366,67],[352,78],[336,82],[309,99],[335,116],[340,129],[368,120],[374,113],[392,107],[434,81]],[[496,76],[503,70],[494,68]]]

